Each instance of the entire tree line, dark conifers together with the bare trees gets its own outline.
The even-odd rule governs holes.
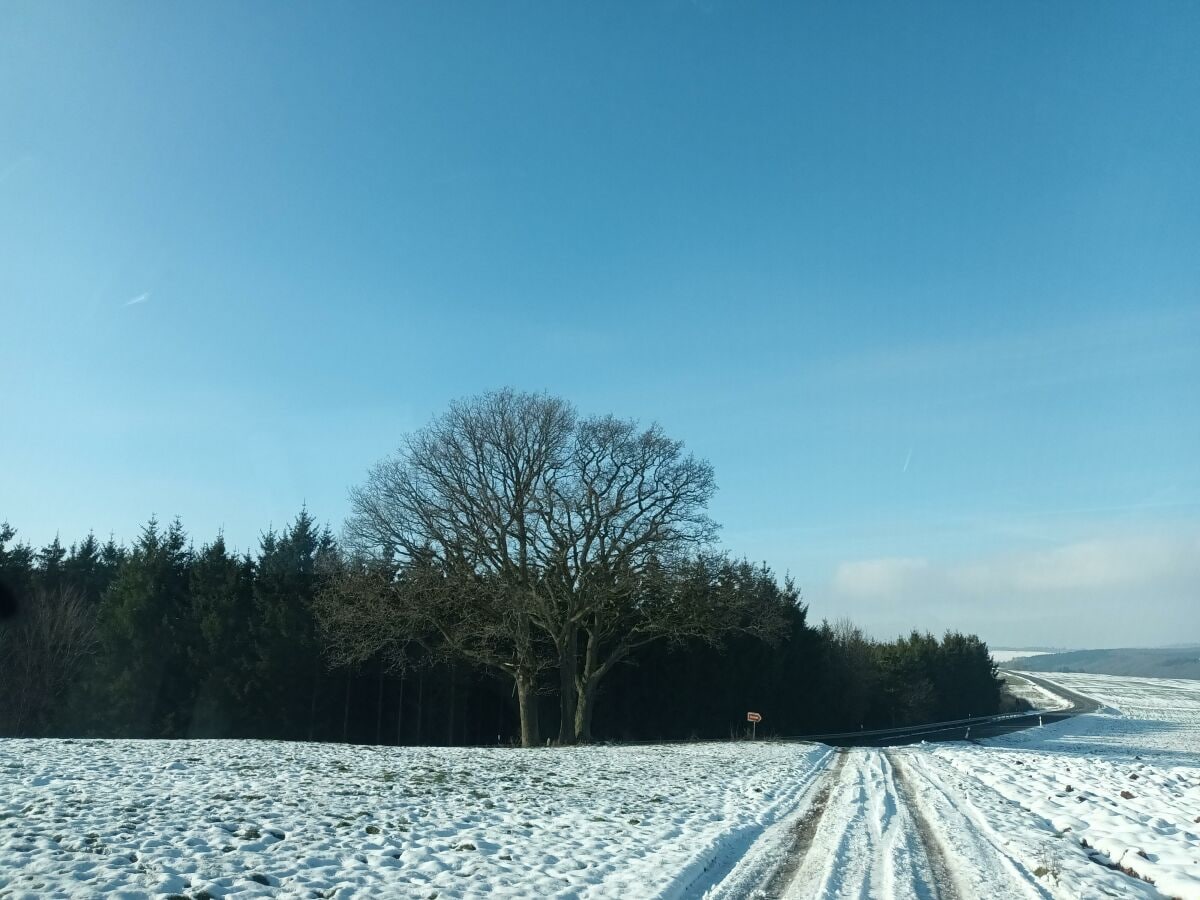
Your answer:
[[[306,510],[252,553],[178,520],[41,550],[5,524],[0,734],[534,745],[998,708],[974,636],[811,625],[713,548],[713,490],[656,426],[499,391],[376,467],[341,542]]]

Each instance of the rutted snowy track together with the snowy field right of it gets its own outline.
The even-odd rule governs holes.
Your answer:
[[[1104,706],[836,755],[710,896],[1200,899],[1200,683],[1062,680]]]

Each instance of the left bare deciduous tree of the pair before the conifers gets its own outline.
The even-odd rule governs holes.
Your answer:
[[[511,677],[521,740],[540,740],[538,677],[546,654],[532,611],[551,547],[539,500],[565,466],[575,430],[552,397],[499,391],[455,403],[377,464],[350,493],[350,548],[414,575],[404,620],[467,659]]]

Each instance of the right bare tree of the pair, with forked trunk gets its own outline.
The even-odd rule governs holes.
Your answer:
[[[715,484],[712,467],[656,425],[602,416],[578,424],[568,464],[548,486],[540,512],[551,589],[536,618],[558,650],[558,738],[566,744],[590,738],[596,688],[612,665],[677,632],[673,610],[652,623],[638,598],[650,566],[676,564],[714,536],[706,508]]]

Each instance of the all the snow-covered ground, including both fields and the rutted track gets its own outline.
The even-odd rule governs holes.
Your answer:
[[[1048,678],[1104,706],[839,752],[0,740],[0,900],[1200,900],[1200,683]]]

